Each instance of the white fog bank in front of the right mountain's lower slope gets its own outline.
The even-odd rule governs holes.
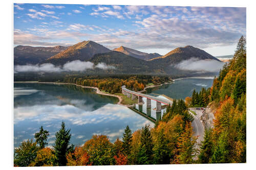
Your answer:
[[[224,64],[224,62],[216,60],[200,60],[193,57],[189,60],[181,61],[175,67],[183,70],[218,72]]]

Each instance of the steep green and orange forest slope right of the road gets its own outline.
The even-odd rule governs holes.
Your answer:
[[[214,129],[205,131],[199,162],[246,162],[246,39],[243,36],[233,59],[214,79],[209,100],[217,111]]]

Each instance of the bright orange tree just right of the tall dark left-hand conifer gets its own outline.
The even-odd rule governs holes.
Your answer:
[[[74,152],[67,155],[67,166],[91,165],[89,155],[82,147],[76,147]]]

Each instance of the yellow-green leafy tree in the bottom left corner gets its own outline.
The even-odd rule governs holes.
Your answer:
[[[36,158],[39,150],[33,139],[23,141],[18,148],[14,149],[14,166],[29,166]]]

